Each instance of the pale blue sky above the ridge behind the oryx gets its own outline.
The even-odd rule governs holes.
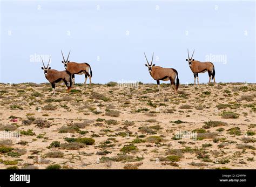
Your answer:
[[[60,50],[71,50],[70,61],[91,65],[95,83],[156,83],[144,51],[191,83],[187,48],[196,60],[212,57],[217,82],[255,82],[255,2],[1,1],[0,82],[46,82],[32,57],[51,56],[51,67],[64,70]]]

